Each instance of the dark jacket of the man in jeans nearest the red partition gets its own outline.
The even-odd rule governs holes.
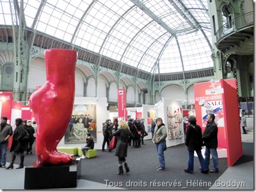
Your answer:
[[[203,140],[205,147],[209,147],[211,149],[217,149],[218,147],[218,126],[214,121],[208,122],[204,133]]]

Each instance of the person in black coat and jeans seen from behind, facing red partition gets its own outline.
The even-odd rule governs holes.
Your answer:
[[[205,160],[202,156],[202,145],[203,145],[203,138],[202,138],[202,129],[200,126],[196,124],[196,117],[191,115],[188,118],[189,126],[186,131],[186,146],[188,147],[188,168],[184,170],[184,172],[193,174],[194,172],[194,151],[196,152],[200,165],[201,165],[201,172],[203,174],[207,174],[209,169],[205,166]]]

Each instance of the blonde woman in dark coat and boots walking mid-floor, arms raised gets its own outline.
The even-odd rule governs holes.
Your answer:
[[[125,167],[125,172],[128,173],[130,171],[125,158],[127,157],[127,149],[129,138],[133,137],[128,124],[121,120],[118,126],[118,129],[113,133],[113,136],[116,136],[117,144],[116,144],[116,154],[118,157],[118,175],[124,174],[123,163]]]

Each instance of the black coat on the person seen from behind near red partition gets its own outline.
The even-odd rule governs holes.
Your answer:
[[[189,124],[186,131],[186,146],[189,151],[199,151],[202,149],[203,138],[202,129],[196,124]]]

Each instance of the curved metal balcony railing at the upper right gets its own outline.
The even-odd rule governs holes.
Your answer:
[[[236,17],[230,22],[227,22],[216,32],[216,40],[217,42],[225,35],[232,33],[235,29],[238,31],[247,26],[253,25],[253,11],[250,13],[246,13],[239,17]]]

